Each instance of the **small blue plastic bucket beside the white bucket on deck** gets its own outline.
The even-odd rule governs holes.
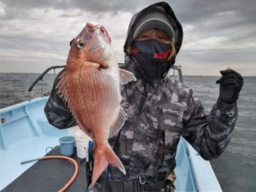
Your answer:
[[[74,151],[74,143],[75,143],[75,138],[74,137],[61,137],[59,139],[60,142],[60,153],[61,155],[65,156],[71,156],[73,155]]]

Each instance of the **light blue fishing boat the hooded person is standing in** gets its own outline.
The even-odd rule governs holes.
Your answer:
[[[32,86],[42,80],[44,74],[52,68],[55,67],[45,70]],[[179,80],[183,81],[181,79],[182,73],[179,69],[180,67],[177,67],[180,76]],[[30,90],[32,90],[32,86]],[[59,130],[50,125],[44,114],[44,105],[47,100],[48,96],[41,96],[0,109],[0,191],[16,192],[17,188],[20,189],[22,186],[27,187],[27,192],[35,191],[34,189],[29,189],[29,186],[35,186],[38,183],[38,178],[40,178],[40,182],[43,182],[44,180],[49,180],[49,177],[39,177],[38,175],[30,175],[28,179],[22,177],[27,177],[26,173],[32,172],[33,167],[38,165],[38,161],[41,161],[38,160],[38,157],[42,157],[48,154],[52,148],[58,147],[60,137],[74,136],[74,133],[78,131],[79,127],[77,126]],[[26,160],[28,160],[28,163],[21,164]],[[203,160],[183,138],[178,143],[176,161],[176,192],[222,191],[209,161]],[[84,173],[85,167],[79,166],[79,172],[82,171]],[[40,172],[37,174],[40,174]],[[60,174],[63,175],[63,173]],[[60,180],[60,177],[51,179],[55,178]],[[84,183],[81,191],[85,191],[88,180],[86,180],[85,176],[80,177],[79,180]],[[20,185],[17,185],[17,183]],[[66,181],[63,181],[63,185],[65,183]],[[79,191],[79,189],[70,188],[67,191]],[[20,189],[19,191],[24,190]],[[38,187],[37,191],[43,192],[46,190],[41,190]]]

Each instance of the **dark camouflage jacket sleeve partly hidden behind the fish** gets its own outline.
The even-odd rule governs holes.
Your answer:
[[[61,99],[61,96],[58,95],[58,90],[56,89],[56,84],[58,83],[59,77],[64,70],[57,75],[49,95],[49,99],[44,106],[44,113],[49,121],[49,124],[54,125],[59,129],[66,129],[68,127],[77,125],[72,113],[70,113],[69,109],[67,108],[67,103]]]

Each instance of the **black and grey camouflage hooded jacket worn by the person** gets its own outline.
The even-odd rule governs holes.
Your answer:
[[[166,75],[148,82],[139,63],[126,52],[133,40],[131,34],[137,18],[154,6],[164,9],[172,18],[177,52],[182,44],[182,27],[167,3],[155,3],[132,17],[124,46],[125,67],[135,74],[137,81],[121,89],[122,106],[128,118],[119,134],[109,139],[125,166],[126,175],[108,166],[102,177],[110,180],[137,180],[142,173],[152,181],[165,180],[176,166],[177,143],[181,137],[205,160],[217,158],[230,142],[236,124],[236,103],[218,100],[207,114],[193,90]],[[67,105],[56,93],[55,84],[44,108],[49,123],[59,128],[76,125]]]

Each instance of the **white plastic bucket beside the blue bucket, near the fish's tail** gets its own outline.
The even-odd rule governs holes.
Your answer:
[[[88,148],[90,137],[88,137],[83,131],[76,131],[75,141],[77,147],[77,156],[81,159],[86,158],[86,161],[88,161]]]

